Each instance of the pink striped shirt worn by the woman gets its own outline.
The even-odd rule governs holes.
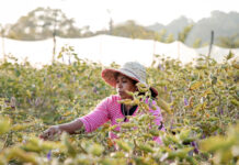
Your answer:
[[[91,111],[89,114],[79,118],[78,120],[80,120],[83,123],[86,132],[92,132],[107,121],[111,121],[111,125],[118,124],[116,119],[125,118],[125,116],[122,113],[121,110],[121,103],[117,102],[118,100],[121,100],[120,96],[117,95],[110,96],[105,98],[103,101],[101,101],[96,106],[96,108],[93,111]],[[152,105],[156,105],[156,102],[152,101]],[[133,116],[136,116],[137,110],[138,108],[135,110]],[[155,124],[160,127],[162,124],[162,116],[161,116],[160,108],[157,107],[156,110],[150,109],[149,112],[156,117],[153,121]],[[116,127],[115,131],[120,131],[120,130],[121,130],[120,125]],[[162,127],[161,130],[164,131],[164,128]],[[113,132],[109,132],[109,135],[111,139],[117,138]],[[153,138],[153,140],[157,141],[158,143],[161,143],[161,140],[158,136]]]

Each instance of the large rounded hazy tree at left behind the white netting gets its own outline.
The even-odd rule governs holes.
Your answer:
[[[21,16],[11,26],[8,37],[16,40],[44,40],[53,37],[79,37],[81,30],[75,26],[73,19],[68,19],[59,9],[37,8]]]

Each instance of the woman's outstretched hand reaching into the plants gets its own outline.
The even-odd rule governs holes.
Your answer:
[[[61,134],[62,130],[60,130],[59,125],[53,125],[46,131],[44,131],[41,135],[39,139],[43,140],[53,140],[55,134]]]

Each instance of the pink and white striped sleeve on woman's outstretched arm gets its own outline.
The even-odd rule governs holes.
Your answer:
[[[86,132],[92,132],[109,121],[109,101],[110,98],[105,98],[92,112],[78,119],[83,123]]]

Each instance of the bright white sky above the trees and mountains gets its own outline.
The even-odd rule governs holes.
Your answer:
[[[94,31],[106,29],[110,16],[114,23],[135,20],[143,25],[168,24],[181,15],[198,21],[213,10],[239,12],[239,0],[0,0],[0,23],[14,23],[37,7],[59,8],[78,26]]]

